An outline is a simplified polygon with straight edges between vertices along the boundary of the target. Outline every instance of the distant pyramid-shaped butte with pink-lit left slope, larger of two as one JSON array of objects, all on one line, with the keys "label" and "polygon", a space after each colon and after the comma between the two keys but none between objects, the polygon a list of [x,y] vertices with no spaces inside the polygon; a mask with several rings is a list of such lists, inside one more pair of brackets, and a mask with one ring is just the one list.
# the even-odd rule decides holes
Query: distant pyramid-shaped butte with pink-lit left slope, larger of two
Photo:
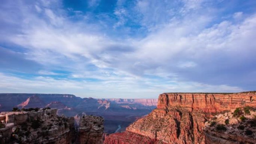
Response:
[{"label": "distant pyramid-shaped butte with pink-lit left slope, larger of two", "polygon": [[36,108],[36,107],[44,108],[45,103],[38,96],[33,95],[33,96],[29,97],[26,101],[17,105],[17,107],[19,107],[19,108]]}]

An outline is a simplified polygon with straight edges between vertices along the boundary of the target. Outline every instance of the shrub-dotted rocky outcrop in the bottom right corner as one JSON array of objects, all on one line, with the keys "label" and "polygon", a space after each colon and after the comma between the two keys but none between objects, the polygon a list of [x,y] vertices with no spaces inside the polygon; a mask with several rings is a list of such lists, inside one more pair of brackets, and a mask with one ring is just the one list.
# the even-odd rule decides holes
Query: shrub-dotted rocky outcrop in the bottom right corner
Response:
[{"label": "shrub-dotted rocky outcrop in the bottom right corner", "polygon": [[[218,114],[205,123],[205,144],[256,144],[256,112],[245,107]],[[251,109],[251,110],[250,110]],[[237,113],[237,114],[235,114]]]}]

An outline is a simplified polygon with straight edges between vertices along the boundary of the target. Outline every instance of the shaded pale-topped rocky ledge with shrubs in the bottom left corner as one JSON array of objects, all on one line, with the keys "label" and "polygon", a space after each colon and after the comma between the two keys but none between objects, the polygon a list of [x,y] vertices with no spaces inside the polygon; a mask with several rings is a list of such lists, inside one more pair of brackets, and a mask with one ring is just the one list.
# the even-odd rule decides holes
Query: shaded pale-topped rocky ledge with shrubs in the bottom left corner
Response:
[{"label": "shaded pale-topped rocky ledge with shrubs in the bottom left corner", "polygon": [[2,112],[4,128],[0,129],[3,144],[70,144],[69,119],[57,116],[57,109]]}]

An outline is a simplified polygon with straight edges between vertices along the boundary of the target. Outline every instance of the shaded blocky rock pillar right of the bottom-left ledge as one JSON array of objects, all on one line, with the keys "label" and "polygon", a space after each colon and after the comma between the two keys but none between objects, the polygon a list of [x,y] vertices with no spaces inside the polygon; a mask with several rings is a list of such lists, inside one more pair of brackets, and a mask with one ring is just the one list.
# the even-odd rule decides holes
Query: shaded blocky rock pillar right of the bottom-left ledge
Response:
[{"label": "shaded blocky rock pillar right of the bottom-left ledge", "polygon": [[82,116],[79,120],[77,144],[102,144],[104,119],[96,116]]}]

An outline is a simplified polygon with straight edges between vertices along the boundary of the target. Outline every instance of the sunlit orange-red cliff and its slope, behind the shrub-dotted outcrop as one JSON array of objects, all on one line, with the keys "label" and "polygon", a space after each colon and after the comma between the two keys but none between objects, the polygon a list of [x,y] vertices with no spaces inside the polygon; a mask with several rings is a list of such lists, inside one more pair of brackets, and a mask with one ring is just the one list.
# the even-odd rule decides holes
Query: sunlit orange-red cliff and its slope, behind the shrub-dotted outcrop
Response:
[{"label": "sunlit orange-red cliff and its slope, behind the shrub-dotted outcrop", "polygon": [[[205,139],[204,126],[214,113],[232,111],[237,107],[256,107],[255,92],[164,93],[159,95],[157,109],[126,129],[129,134],[110,134],[105,144],[133,144],[124,141],[130,132],[150,138],[153,144],[210,144]],[[145,140],[146,140],[145,138]],[[136,137],[134,137],[136,139]],[[138,144],[143,138],[138,138]]]}]

